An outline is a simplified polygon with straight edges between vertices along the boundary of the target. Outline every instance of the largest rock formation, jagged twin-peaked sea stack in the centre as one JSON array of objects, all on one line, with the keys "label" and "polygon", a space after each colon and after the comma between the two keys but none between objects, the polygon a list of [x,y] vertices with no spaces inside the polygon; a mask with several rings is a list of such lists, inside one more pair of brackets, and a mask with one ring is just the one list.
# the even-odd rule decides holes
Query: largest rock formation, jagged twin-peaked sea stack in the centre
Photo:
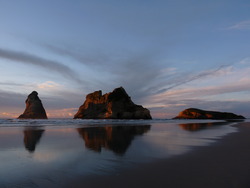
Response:
[{"label": "largest rock formation, jagged twin-peaked sea stack in the centre", "polygon": [[148,109],[132,102],[120,87],[102,95],[95,91],[86,96],[74,119],[152,119]]}]

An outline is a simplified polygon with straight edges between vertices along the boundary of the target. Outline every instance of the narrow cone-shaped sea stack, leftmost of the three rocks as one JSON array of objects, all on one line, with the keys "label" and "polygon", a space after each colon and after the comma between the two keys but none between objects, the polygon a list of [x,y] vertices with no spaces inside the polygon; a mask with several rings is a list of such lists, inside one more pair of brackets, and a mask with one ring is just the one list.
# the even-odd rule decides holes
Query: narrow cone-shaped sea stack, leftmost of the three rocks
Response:
[{"label": "narrow cone-shaped sea stack, leftmost of the three rocks", "polygon": [[18,119],[48,119],[38,93],[33,91],[25,101],[26,108]]}]

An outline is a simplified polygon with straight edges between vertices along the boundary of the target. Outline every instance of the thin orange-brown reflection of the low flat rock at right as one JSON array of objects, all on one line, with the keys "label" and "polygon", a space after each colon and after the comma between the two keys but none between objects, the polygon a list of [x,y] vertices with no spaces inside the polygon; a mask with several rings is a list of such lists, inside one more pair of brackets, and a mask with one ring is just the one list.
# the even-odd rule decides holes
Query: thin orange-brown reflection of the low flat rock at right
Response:
[{"label": "thin orange-brown reflection of the low flat rock at right", "polygon": [[179,126],[186,131],[199,131],[201,129],[206,129],[211,126],[226,125],[227,122],[215,122],[215,123],[187,123],[179,124]]}]

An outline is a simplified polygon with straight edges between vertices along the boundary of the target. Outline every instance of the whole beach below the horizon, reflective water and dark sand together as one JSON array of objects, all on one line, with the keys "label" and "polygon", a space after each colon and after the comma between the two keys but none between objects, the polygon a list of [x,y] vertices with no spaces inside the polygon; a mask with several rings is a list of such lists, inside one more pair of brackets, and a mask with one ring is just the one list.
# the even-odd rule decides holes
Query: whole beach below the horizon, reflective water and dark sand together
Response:
[{"label": "whole beach below the horizon, reflective water and dark sand together", "polygon": [[0,187],[250,187],[250,123],[1,121]]}]

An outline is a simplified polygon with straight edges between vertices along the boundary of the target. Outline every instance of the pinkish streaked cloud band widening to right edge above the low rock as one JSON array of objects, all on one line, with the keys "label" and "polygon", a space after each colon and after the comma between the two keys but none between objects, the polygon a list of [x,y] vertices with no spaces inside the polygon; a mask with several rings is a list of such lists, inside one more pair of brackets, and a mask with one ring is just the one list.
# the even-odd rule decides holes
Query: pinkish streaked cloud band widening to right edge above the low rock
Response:
[{"label": "pinkish streaked cloud band widening to right edge above the low rock", "polygon": [[[233,66],[220,67],[214,71],[201,72],[198,76],[184,77],[185,81],[173,82],[173,87],[166,88],[151,95],[153,103],[159,103],[162,99],[187,99],[187,98],[211,98],[216,95],[229,95],[250,92],[250,69],[238,68],[241,61]],[[201,78],[203,78],[201,80]],[[192,85],[186,85],[193,81]],[[177,87],[180,86],[181,87]],[[240,99],[238,99],[240,100]]]}]

